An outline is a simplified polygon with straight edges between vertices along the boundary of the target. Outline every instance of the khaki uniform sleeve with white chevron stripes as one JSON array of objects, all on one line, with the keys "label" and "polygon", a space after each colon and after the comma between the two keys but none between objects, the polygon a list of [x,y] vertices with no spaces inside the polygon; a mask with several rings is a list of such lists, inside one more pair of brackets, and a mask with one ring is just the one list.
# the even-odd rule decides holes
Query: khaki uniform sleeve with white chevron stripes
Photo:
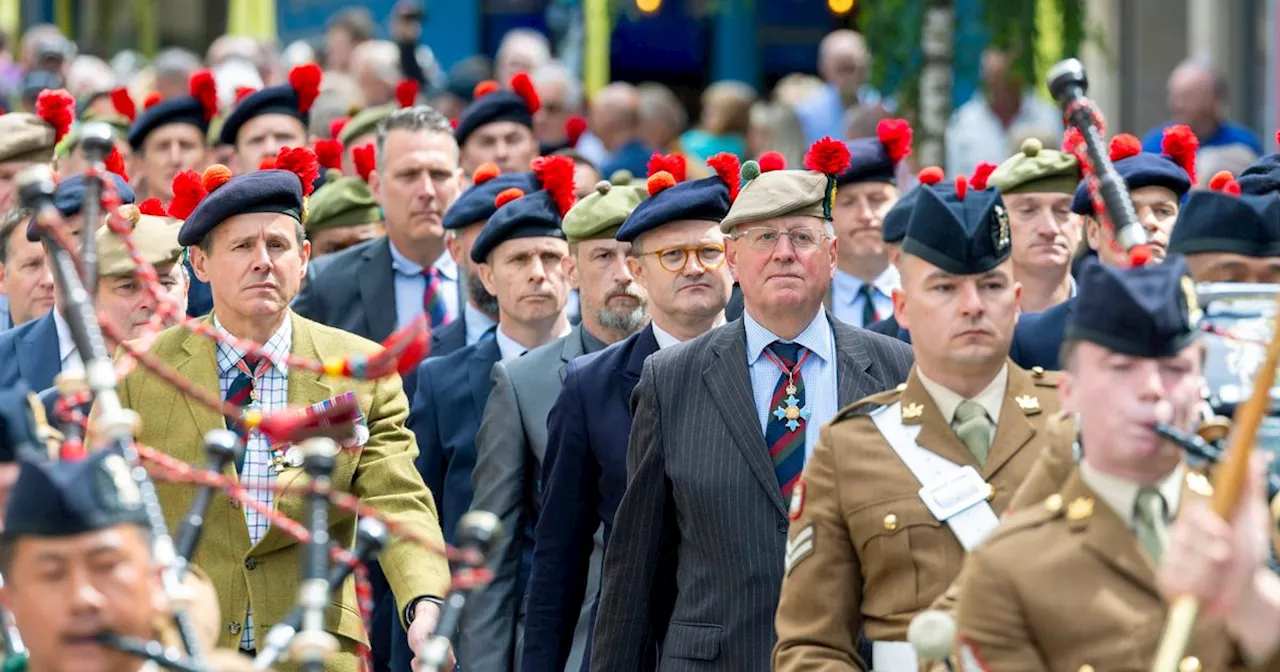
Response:
[{"label": "khaki uniform sleeve with white chevron stripes", "polygon": [[778,602],[778,643],[773,669],[865,669],[858,657],[861,631],[861,567],[840,502],[833,434],[849,424],[822,428],[791,502],[786,575]]}]

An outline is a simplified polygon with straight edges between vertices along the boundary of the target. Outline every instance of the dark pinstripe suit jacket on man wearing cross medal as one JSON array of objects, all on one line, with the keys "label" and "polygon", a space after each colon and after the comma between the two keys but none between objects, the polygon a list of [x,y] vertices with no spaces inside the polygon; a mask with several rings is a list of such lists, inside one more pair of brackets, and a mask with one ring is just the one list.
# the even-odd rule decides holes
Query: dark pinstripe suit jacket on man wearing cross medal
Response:
[{"label": "dark pinstripe suit jacket on man wearing cross medal", "polygon": [[[840,323],[841,406],[906,380],[911,349]],[[787,503],[735,320],[644,364],[591,669],[769,669]]]}]

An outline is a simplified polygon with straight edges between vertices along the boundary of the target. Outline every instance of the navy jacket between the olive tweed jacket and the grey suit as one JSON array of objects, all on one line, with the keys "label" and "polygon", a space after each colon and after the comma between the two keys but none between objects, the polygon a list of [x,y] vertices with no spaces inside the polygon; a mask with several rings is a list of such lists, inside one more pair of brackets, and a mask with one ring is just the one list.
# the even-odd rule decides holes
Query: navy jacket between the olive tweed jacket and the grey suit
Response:
[{"label": "navy jacket between the olive tweed jacket and the grey suit", "polygon": [[476,431],[502,358],[498,339],[486,338],[417,366],[417,390],[408,429],[417,438],[417,471],[435,498],[444,540],[453,543],[458,518],[471,508]]}]

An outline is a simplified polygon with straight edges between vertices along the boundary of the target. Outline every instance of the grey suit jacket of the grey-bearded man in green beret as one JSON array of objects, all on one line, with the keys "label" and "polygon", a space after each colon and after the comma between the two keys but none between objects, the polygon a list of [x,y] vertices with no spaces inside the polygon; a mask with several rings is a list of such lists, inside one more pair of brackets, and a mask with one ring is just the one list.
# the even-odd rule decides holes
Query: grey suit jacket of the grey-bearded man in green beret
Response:
[{"label": "grey suit jacket of the grey-bearded man in green beret", "polygon": [[[458,659],[466,669],[508,672],[520,654],[526,556],[532,554],[534,522],[541,508],[541,463],[547,454],[547,415],[564,380],[564,365],[589,352],[582,326],[530,351],[524,357],[493,366],[493,390],[476,434],[472,508],[497,513],[503,535],[489,556],[493,581],[467,604]],[[589,612],[593,604],[585,605]],[[582,658],[590,618],[579,621],[576,659]],[[571,654],[572,658],[572,654]],[[576,669],[576,668],[573,668]]]}]

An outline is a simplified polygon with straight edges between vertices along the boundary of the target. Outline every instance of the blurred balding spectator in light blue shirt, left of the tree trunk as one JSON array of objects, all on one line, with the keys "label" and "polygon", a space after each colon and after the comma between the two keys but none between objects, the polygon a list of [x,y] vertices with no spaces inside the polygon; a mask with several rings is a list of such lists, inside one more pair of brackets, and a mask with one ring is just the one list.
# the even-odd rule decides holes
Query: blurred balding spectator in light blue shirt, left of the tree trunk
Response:
[{"label": "blurred balding spectator in light blue shirt, left of the tree trunk", "polygon": [[840,29],[822,38],[818,74],[826,86],[796,106],[806,142],[827,136],[840,138],[845,133],[845,110],[879,105],[879,91],[867,83],[870,64],[872,55],[861,35]]}]

